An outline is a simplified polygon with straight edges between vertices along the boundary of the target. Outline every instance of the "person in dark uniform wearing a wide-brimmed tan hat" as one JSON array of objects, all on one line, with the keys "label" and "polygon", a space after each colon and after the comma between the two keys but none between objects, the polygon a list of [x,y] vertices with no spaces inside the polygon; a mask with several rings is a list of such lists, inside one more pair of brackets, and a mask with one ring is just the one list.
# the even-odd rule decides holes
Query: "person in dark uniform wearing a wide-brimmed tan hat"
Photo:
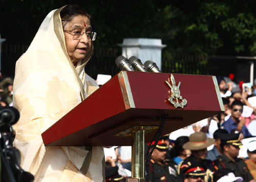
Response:
[{"label": "person in dark uniform wearing a wide-brimmed tan hat", "polygon": [[179,164],[178,174],[185,179],[185,174],[188,168],[191,166],[203,166],[206,170],[205,181],[211,181],[213,179],[212,171],[214,167],[210,160],[207,160],[207,147],[214,144],[215,140],[207,138],[203,132],[195,132],[189,136],[189,141],[183,145],[184,149],[191,150],[190,157],[184,159]]}]

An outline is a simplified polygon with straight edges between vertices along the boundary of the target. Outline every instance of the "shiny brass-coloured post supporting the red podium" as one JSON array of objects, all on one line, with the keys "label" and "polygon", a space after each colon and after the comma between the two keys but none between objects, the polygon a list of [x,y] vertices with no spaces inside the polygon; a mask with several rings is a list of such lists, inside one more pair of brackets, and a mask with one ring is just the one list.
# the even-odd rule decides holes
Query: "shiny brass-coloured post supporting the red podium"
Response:
[{"label": "shiny brass-coloured post supporting the red podium", "polygon": [[132,131],[132,178],[144,178],[144,127],[135,126]]}]

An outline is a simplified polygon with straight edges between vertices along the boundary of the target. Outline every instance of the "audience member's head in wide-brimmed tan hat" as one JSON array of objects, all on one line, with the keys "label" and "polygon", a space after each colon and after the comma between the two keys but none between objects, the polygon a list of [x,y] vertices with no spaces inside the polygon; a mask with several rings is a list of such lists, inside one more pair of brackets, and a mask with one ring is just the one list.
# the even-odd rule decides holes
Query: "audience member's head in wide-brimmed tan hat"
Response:
[{"label": "audience member's head in wide-brimmed tan hat", "polygon": [[201,161],[207,157],[207,147],[214,143],[215,140],[207,138],[203,132],[195,132],[189,136],[189,141],[183,145],[183,148],[191,150],[191,154]]}]

